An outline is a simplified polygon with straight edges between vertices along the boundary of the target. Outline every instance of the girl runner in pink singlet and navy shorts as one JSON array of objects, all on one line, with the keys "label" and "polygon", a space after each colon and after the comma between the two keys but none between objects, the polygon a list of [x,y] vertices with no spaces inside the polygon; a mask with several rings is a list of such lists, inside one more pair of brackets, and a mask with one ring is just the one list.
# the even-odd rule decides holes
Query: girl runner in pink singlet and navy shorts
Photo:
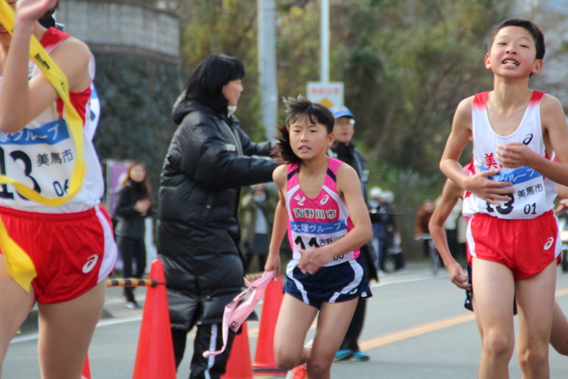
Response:
[{"label": "girl runner in pink singlet and navy shorts", "polygon": [[[319,104],[288,99],[276,152],[287,164],[272,175],[280,201],[264,269],[280,272],[280,243],[288,229],[292,260],[274,334],[274,354],[288,378],[326,379],[359,297],[371,296],[359,247],[372,228],[359,178],[349,165],[327,156],[334,117]],[[318,315],[311,346],[305,336]]]}]

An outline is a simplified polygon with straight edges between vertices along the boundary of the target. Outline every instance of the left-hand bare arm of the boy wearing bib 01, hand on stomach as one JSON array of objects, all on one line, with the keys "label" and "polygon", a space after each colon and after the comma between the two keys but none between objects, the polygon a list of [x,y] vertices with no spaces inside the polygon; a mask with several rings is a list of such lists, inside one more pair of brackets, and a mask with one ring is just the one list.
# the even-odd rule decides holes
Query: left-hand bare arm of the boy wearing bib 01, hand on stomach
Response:
[{"label": "left-hand bare arm of the boy wearing bib 01, hand on stomach", "polygon": [[462,100],[454,115],[452,131],[447,138],[446,148],[440,161],[440,170],[451,179],[456,185],[465,188],[471,193],[475,193],[480,199],[489,201],[494,205],[499,205],[497,201],[509,201],[509,196],[505,193],[513,193],[509,182],[495,182],[489,180],[489,176],[495,175],[499,170],[487,170],[476,175],[469,176],[458,162],[461,153],[468,143],[471,135],[471,108],[473,98]]}]

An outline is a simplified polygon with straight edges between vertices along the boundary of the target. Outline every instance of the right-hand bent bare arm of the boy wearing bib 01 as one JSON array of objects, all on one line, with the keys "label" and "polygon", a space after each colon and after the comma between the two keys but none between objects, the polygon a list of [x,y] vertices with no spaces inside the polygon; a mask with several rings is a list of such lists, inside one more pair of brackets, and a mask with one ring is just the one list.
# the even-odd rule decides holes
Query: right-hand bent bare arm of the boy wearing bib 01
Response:
[{"label": "right-hand bent bare arm of the boy wearing bib 01", "polygon": [[497,146],[497,159],[504,166],[528,166],[563,186],[568,186],[568,130],[564,109],[558,99],[546,95],[540,103],[540,118],[545,145],[556,153],[558,162],[535,153],[521,143]]}]

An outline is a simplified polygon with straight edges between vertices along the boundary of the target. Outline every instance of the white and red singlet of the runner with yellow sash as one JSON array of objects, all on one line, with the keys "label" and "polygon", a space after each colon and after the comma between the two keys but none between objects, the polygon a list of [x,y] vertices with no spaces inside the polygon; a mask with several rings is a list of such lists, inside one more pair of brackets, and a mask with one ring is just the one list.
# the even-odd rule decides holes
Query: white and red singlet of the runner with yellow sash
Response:
[{"label": "white and red singlet of the runner with yellow sash", "polygon": [[[68,35],[56,28],[49,28],[41,43],[51,53]],[[30,60],[29,79],[39,74],[39,68]],[[89,62],[91,80],[95,75],[95,62]],[[0,85],[2,76],[0,75]],[[84,121],[83,127],[90,130],[90,117],[85,120],[85,109],[90,109],[91,88],[81,92],[70,92],[71,102]],[[0,170],[10,178],[48,198],[67,193],[76,149],[67,122],[63,119],[63,101],[58,99],[23,130],[16,133],[0,132]],[[91,115],[91,114],[90,114]],[[48,207],[29,201],[12,185],[0,186],[0,206],[39,213],[74,213],[91,209],[103,195],[104,183],[91,138],[83,130],[83,154],[86,165],[83,186],[77,195],[60,207]]]}]

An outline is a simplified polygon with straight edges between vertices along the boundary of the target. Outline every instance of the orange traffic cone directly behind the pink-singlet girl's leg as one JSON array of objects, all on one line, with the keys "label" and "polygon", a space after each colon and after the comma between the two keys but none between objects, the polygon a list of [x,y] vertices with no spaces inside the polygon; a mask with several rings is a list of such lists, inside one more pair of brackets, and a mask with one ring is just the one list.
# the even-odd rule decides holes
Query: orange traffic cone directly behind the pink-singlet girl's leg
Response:
[{"label": "orange traffic cone directly behind the pink-singlet girl's leg", "polygon": [[280,276],[278,280],[272,280],[264,292],[263,312],[260,316],[260,327],[256,340],[255,362],[252,365],[255,373],[286,375],[286,371],[280,370],[274,359],[274,330],[282,297],[282,277]]}]

